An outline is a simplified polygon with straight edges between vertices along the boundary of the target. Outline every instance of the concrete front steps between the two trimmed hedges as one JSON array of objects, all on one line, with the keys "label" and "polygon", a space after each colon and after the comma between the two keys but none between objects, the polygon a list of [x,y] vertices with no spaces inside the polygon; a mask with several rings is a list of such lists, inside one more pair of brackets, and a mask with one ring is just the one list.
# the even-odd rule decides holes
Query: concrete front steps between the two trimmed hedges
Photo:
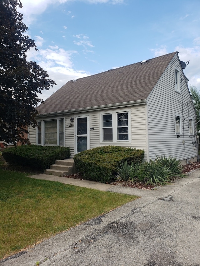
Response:
[{"label": "concrete front steps between the two trimmed hedges", "polygon": [[75,163],[73,159],[55,161],[55,164],[50,165],[50,169],[44,170],[45,174],[58,177],[71,175],[75,172]]}]

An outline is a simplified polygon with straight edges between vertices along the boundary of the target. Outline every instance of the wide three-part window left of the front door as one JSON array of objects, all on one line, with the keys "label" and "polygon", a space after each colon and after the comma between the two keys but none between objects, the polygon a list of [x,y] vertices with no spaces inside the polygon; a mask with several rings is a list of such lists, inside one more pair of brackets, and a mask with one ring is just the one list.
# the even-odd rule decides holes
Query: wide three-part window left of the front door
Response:
[{"label": "wide three-part window left of the front door", "polygon": [[64,145],[64,119],[37,122],[37,145]]}]

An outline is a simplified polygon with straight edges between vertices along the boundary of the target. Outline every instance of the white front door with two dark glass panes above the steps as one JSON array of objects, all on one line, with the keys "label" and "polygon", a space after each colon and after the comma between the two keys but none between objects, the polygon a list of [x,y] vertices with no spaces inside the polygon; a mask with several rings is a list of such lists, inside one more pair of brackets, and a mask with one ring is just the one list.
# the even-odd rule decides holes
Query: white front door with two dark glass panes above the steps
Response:
[{"label": "white front door with two dark glass panes above the steps", "polygon": [[76,153],[88,149],[88,116],[76,118]]}]

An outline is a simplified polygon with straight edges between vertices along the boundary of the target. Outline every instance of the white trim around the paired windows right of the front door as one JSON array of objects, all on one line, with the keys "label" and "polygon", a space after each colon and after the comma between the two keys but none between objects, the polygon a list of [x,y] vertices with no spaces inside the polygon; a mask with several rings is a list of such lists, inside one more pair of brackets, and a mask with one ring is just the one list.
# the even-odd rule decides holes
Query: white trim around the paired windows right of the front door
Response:
[{"label": "white trim around the paired windows right of the front door", "polygon": [[[118,113],[128,113],[128,140],[117,140],[118,133],[117,133],[117,114]],[[113,140],[103,140],[103,114],[112,114],[113,115]],[[131,144],[131,109],[120,109],[114,111],[105,111],[100,112],[100,143],[104,144],[123,144],[129,143]]]}]

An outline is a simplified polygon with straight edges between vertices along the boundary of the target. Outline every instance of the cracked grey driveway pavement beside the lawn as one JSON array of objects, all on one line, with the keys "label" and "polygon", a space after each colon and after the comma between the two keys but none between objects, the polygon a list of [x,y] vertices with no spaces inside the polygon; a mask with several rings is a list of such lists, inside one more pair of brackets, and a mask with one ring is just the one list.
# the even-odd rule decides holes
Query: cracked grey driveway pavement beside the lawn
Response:
[{"label": "cracked grey driveway pavement beside the lawn", "polygon": [[0,261],[0,266],[200,266],[200,170]]}]

